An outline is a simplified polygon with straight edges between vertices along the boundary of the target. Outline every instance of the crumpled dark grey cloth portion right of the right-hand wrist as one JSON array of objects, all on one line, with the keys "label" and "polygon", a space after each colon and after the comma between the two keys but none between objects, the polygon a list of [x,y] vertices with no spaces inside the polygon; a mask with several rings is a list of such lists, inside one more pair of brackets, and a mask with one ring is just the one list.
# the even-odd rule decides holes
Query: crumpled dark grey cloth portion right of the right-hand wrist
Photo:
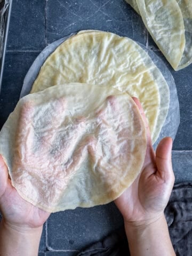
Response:
[{"label": "crumpled dark grey cloth portion right of the right-hand wrist", "polygon": [[171,241],[177,256],[192,255],[192,183],[175,185],[165,209]]}]

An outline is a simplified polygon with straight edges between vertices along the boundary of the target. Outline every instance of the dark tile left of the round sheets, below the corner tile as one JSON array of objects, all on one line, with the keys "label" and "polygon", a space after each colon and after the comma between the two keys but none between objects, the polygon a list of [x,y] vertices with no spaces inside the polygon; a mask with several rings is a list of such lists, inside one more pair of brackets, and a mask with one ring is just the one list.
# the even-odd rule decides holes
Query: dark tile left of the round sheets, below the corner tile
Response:
[{"label": "dark tile left of the round sheets, below the corner tile", "polygon": [[19,100],[23,79],[39,52],[7,52],[0,94],[0,129]]}]

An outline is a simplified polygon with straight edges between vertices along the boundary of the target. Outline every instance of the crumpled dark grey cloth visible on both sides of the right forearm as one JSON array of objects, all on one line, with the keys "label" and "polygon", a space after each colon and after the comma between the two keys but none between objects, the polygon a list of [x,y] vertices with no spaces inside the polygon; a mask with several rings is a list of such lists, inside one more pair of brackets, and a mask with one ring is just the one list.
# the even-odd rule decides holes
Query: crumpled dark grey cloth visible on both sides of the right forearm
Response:
[{"label": "crumpled dark grey cloth visible on both sides of the right forearm", "polygon": [[[192,183],[175,185],[165,209],[171,241],[177,256],[192,255]],[[159,241],[161,243],[161,241]],[[162,244],[163,246],[163,244]],[[129,256],[124,228],[91,245],[77,256]]]}]

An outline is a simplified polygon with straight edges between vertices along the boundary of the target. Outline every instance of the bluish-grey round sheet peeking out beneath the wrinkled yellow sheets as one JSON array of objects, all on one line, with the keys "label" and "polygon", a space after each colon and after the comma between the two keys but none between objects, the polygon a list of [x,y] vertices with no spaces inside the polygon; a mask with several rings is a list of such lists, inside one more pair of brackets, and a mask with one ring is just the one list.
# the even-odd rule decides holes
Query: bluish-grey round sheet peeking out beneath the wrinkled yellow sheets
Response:
[{"label": "bluish-grey round sheet peeking out beneath the wrinkled yellow sheets", "polygon": [[[57,47],[66,41],[70,36],[73,36],[75,34],[71,34],[67,37],[63,37],[52,44],[48,45],[35,59],[33,65],[31,65],[24,81],[23,86],[20,94],[20,98],[27,95],[35,82],[35,79],[38,76],[38,73],[44,63],[44,61],[49,57],[49,55],[57,49]],[[145,50],[150,58],[153,60],[155,65],[158,67],[159,70],[161,70],[162,75],[164,76],[167,85],[169,86],[170,90],[170,107],[169,111],[165,120],[165,123],[162,127],[161,133],[159,134],[159,137],[157,141],[154,143],[154,148],[157,147],[159,141],[167,136],[170,136],[173,140],[175,138],[175,135],[177,134],[179,122],[180,122],[180,112],[179,112],[179,101],[178,101],[178,95],[177,95],[177,89],[174,83],[174,79],[169,71],[169,69],[166,67],[165,63],[151,50],[147,49],[144,45],[138,43],[139,46],[142,47],[143,50]]]}]

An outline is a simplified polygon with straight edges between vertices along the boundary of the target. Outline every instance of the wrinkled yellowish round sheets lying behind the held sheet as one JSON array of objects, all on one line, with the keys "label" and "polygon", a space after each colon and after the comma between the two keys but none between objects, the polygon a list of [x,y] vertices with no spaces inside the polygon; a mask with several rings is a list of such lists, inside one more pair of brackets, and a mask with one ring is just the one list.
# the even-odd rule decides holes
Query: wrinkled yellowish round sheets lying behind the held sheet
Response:
[{"label": "wrinkled yellowish round sheets lying behind the held sheet", "polygon": [[113,86],[139,98],[153,142],[169,109],[169,88],[141,47],[126,37],[103,31],[81,31],[62,43],[44,62],[31,93],[62,83]]}]

